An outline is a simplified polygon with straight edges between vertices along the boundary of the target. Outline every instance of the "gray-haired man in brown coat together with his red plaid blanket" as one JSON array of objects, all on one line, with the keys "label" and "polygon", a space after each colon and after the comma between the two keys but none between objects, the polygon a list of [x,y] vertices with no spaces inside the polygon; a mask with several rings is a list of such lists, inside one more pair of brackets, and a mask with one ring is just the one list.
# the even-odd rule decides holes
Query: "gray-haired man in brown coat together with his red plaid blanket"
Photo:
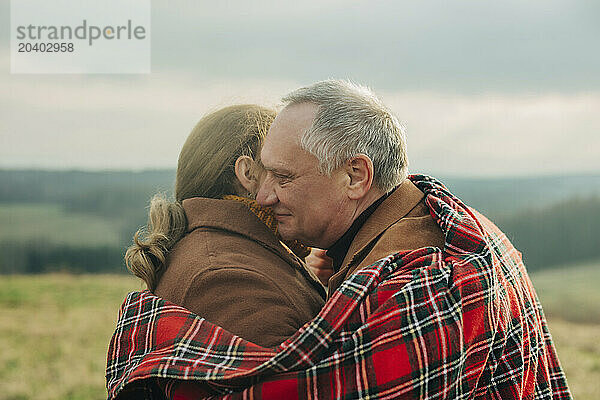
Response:
[{"label": "gray-haired man in brown coat together with his red plaid blanket", "polygon": [[109,349],[109,399],[570,399],[520,253],[442,183],[407,175],[385,106],[343,81],[284,100],[257,201],[284,239],[327,249],[323,310],[266,349],[132,293]]}]

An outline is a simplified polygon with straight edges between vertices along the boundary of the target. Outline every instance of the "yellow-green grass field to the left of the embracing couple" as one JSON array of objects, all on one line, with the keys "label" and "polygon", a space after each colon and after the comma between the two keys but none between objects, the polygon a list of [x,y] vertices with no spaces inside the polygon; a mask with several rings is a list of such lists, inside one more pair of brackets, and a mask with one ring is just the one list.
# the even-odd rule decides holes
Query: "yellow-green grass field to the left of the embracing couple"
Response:
[{"label": "yellow-green grass field to the left of the embracing couple", "polygon": [[118,275],[2,277],[0,399],[103,399],[108,340],[137,280]]}]

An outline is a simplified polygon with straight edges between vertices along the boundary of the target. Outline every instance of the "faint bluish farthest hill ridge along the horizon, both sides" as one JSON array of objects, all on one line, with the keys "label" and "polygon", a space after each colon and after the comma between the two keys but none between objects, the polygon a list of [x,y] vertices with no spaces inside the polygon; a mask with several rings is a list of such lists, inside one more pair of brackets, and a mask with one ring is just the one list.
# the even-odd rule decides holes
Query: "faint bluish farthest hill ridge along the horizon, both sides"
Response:
[{"label": "faint bluish farthest hill ridge along the horizon, both sides", "polygon": [[[543,208],[572,198],[600,195],[600,174],[461,178],[436,176],[467,204],[492,218],[519,210]],[[0,170],[0,203],[59,203],[72,208],[100,211],[113,203],[108,198],[139,204],[158,191],[172,192],[174,170],[43,171]],[[89,198],[104,198],[105,204]],[[84,204],[88,204],[89,207]]]}]

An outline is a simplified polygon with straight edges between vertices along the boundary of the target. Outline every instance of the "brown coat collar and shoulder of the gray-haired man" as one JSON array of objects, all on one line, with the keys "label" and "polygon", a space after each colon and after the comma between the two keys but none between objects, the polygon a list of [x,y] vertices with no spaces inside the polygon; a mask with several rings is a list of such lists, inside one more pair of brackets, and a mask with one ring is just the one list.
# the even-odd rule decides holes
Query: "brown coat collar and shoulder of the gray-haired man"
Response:
[{"label": "brown coat collar and shoulder of the gray-haired man", "polygon": [[381,203],[350,244],[342,267],[329,279],[329,294],[361,267],[390,254],[426,246],[444,247],[444,235],[429,214],[425,195],[406,179]]}]

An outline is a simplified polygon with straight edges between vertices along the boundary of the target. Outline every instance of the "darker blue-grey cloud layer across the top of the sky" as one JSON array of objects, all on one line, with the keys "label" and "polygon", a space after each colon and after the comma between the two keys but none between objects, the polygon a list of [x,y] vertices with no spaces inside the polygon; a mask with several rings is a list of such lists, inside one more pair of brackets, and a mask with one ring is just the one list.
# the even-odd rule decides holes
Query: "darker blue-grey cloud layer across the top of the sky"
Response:
[{"label": "darker blue-grey cloud layer across the top of the sky", "polygon": [[395,91],[600,90],[598,11],[592,0],[155,0],[152,68]]}]

